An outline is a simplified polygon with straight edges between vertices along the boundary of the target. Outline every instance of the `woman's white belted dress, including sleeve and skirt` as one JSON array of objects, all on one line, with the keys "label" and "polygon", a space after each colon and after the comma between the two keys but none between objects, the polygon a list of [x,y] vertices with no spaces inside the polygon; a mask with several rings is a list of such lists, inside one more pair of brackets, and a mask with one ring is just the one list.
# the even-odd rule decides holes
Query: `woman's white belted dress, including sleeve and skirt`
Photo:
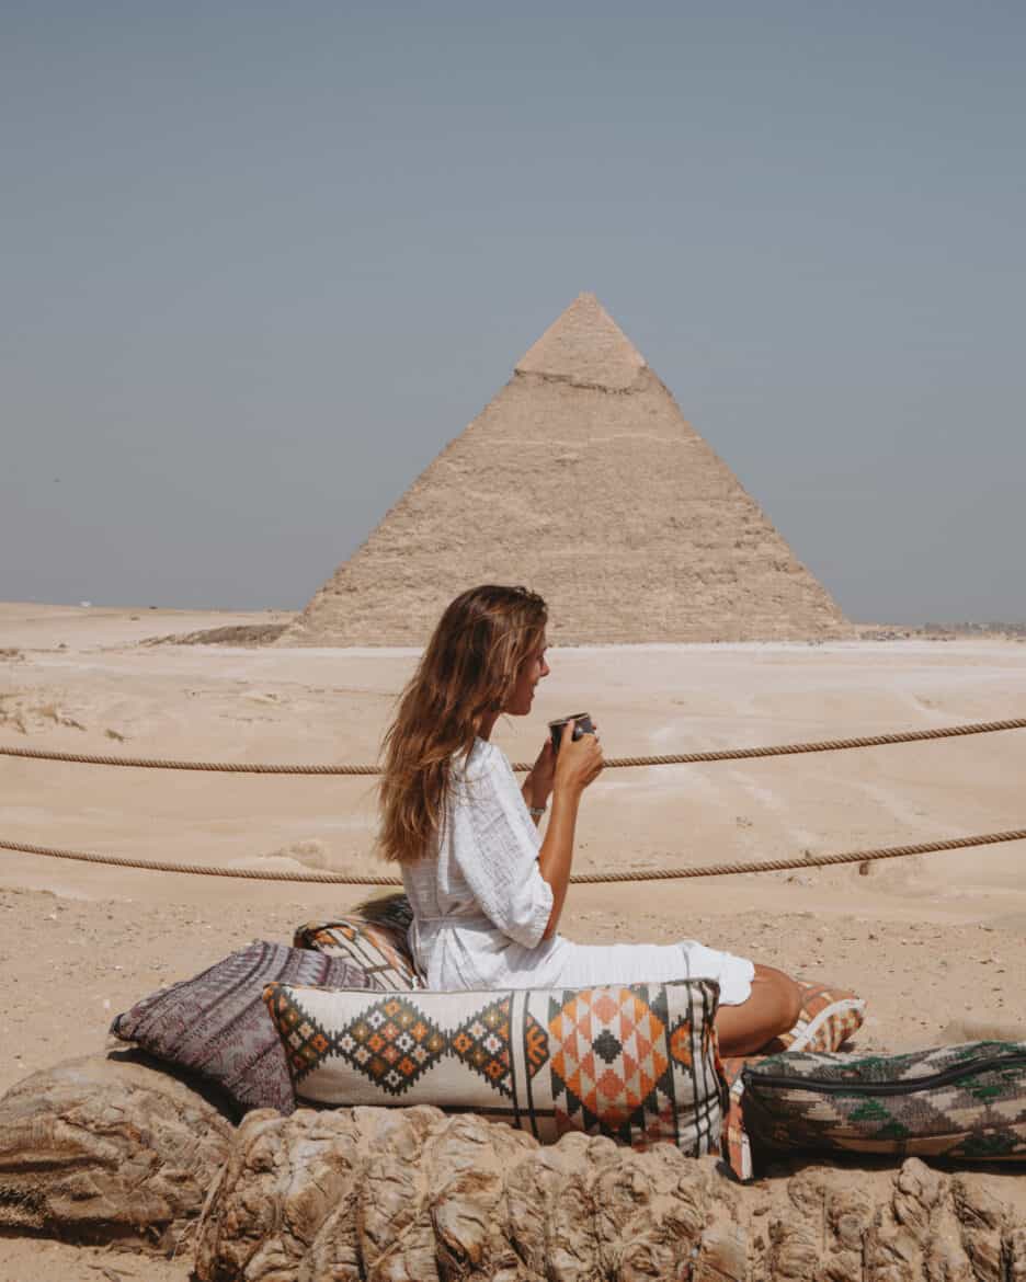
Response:
[{"label": "woman's white belted dress, including sleeve and skirt", "polygon": [[754,967],[694,940],[573,944],[541,938],[553,892],[541,876],[541,837],[503,753],[485,740],[453,759],[435,850],[403,867],[413,908],[409,942],[428,988],[584,988],[712,978],[723,1005],[752,991]]}]

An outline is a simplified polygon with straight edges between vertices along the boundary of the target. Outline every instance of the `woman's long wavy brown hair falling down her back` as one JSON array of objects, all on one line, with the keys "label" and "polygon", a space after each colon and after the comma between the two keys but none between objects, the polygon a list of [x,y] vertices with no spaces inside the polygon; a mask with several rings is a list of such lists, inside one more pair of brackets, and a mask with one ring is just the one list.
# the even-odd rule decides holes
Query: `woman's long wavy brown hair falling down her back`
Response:
[{"label": "woman's long wavy brown hair falling down her back", "polygon": [[536,592],[495,585],[463,592],[442,614],[382,741],[385,859],[410,864],[427,853],[445,813],[449,759],[468,754],[505,705],[546,622]]}]

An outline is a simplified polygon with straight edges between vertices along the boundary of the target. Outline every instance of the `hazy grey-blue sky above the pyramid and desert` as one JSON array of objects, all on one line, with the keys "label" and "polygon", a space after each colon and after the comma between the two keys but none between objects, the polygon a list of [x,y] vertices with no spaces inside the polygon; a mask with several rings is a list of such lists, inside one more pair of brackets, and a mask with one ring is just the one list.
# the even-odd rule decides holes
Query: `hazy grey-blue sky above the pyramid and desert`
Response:
[{"label": "hazy grey-blue sky above the pyramid and desert", "polygon": [[594,290],[858,619],[1026,618],[1026,6],[0,0],[0,597],[299,606]]}]

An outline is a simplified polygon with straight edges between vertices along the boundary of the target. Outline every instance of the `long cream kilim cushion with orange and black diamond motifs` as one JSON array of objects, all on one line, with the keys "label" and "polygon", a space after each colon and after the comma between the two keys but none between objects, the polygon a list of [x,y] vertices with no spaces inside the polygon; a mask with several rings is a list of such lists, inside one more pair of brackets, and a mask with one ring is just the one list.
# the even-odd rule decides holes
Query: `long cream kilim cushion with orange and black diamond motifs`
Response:
[{"label": "long cream kilim cushion with orange and black diamond motifs", "polygon": [[435,1104],[554,1140],[718,1151],[712,979],[501,992],[328,992],[269,985],[300,1099]]}]

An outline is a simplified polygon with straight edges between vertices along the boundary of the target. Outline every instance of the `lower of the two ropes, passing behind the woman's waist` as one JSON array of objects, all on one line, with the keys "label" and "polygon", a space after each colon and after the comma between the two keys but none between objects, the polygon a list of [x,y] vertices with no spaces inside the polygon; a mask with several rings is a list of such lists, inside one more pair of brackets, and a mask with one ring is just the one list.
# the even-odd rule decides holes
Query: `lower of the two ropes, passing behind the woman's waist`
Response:
[{"label": "lower of the two ropes, passing behind the woman's waist", "polygon": [[[907,855],[931,855],[944,850],[964,850],[968,846],[993,846],[1002,841],[1026,841],[1026,828],[1009,832],[986,832],[976,837],[952,837],[948,841],[925,841],[911,846],[877,846],[872,850],[850,850],[837,854],[802,855],[790,859],[739,860],[725,864],[699,864],[694,868],[636,868],[621,873],[576,873],[571,882],[576,886],[604,886],[617,882],[678,881],[687,877],[732,877],[740,873],[785,872],[793,868],[830,868],[836,864],[868,864],[877,859],[900,859]],[[180,864],[164,859],[130,859],[122,855],[101,855],[88,850],[62,850],[55,846],[36,846],[23,841],[0,840],[0,849],[26,855],[44,855],[47,859],[71,859],[87,864],[106,864],[110,868],[139,868],[145,872],[192,873],[199,877],[241,877],[250,881],[312,882],[319,886],[401,886],[394,877],[369,877],[355,873],[281,872],[259,868],[217,868],[204,864]]]}]

